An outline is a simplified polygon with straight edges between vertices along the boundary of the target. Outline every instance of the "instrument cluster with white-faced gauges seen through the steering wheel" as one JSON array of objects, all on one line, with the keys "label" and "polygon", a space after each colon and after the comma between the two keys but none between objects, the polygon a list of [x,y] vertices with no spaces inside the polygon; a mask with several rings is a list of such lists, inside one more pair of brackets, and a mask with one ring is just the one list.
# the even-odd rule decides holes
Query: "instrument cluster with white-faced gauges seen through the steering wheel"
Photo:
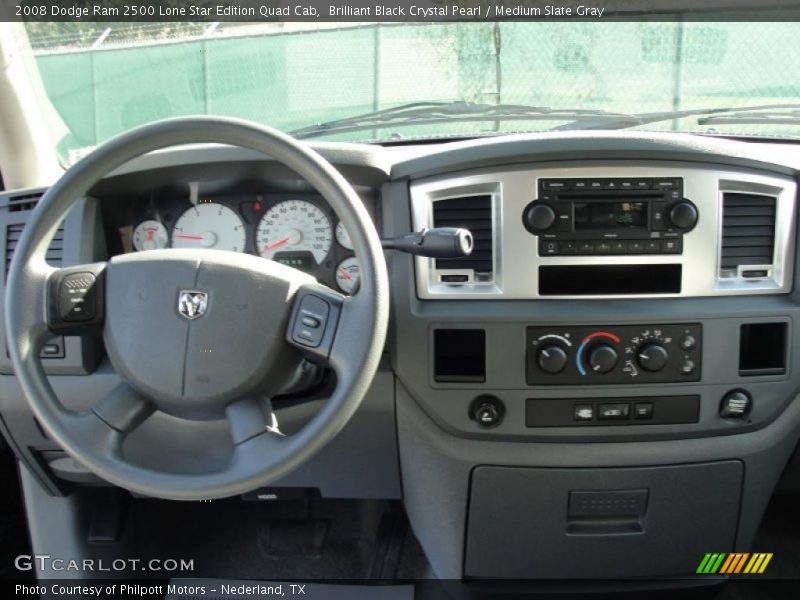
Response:
[{"label": "instrument cluster with white-faced gauges seen through the steering wheel", "polygon": [[256,254],[353,294],[360,269],[350,235],[315,194],[198,195],[139,200],[118,217],[122,252],[212,248]]}]

